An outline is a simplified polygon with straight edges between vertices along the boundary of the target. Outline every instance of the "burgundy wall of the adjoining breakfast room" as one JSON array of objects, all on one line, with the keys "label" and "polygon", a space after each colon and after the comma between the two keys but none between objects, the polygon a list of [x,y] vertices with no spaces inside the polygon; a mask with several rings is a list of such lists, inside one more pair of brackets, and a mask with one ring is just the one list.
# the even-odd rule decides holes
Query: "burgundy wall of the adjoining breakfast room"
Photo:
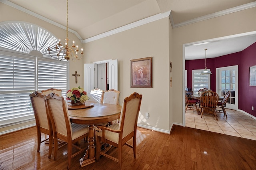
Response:
[{"label": "burgundy wall of the adjoining breakfast room", "polygon": [[[185,61],[188,87],[192,87],[192,70],[204,69],[204,61],[205,59]],[[238,109],[256,117],[256,86],[249,86],[249,67],[256,65],[256,43],[241,52],[206,59],[206,67],[212,72],[210,75],[212,91],[216,91],[216,68],[232,65],[238,65]]]}]

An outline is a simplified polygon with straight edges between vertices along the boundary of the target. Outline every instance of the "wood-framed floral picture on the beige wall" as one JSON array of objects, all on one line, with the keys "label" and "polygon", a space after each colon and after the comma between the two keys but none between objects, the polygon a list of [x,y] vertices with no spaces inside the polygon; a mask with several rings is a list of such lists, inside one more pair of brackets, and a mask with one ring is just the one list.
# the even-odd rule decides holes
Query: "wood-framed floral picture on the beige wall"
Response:
[{"label": "wood-framed floral picture on the beige wall", "polygon": [[152,88],[152,57],[132,59],[130,67],[131,87]]}]

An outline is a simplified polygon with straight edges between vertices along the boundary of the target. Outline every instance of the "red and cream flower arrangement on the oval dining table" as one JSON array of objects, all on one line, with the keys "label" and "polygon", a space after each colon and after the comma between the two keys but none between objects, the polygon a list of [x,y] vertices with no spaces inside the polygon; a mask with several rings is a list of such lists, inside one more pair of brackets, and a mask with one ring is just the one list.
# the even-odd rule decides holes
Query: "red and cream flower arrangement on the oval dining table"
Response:
[{"label": "red and cream flower arrangement on the oval dining table", "polygon": [[85,103],[85,101],[89,100],[87,92],[84,91],[80,86],[73,87],[71,90],[67,91],[67,100],[74,101],[74,103]]}]

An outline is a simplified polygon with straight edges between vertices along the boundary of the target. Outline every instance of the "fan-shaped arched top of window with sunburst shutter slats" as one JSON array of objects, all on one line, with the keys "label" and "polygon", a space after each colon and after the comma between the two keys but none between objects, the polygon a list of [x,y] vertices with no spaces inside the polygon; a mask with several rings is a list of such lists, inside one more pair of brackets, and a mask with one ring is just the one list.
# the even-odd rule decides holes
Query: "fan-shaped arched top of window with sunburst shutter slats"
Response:
[{"label": "fan-shaped arched top of window with sunburst shutter slats", "polygon": [[[0,24],[0,47],[22,53],[40,51],[44,57],[50,57],[47,48],[54,48],[58,39],[50,32],[26,22],[2,22]],[[54,53],[53,53],[54,55]]]}]

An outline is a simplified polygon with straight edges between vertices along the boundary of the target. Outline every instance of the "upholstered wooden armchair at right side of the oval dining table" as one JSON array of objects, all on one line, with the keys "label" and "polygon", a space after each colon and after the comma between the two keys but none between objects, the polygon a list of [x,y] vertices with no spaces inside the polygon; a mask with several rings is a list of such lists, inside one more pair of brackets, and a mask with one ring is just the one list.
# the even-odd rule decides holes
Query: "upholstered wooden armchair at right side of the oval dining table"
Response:
[{"label": "upholstered wooden armchair at right side of the oval dining table", "polygon": [[[141,99],[142,95],[135,92],[132,93],[124,99],[122,104],[120,123],[115,123],[109,127],[98,127],[102,130],[96,134],[96,161],[99,161],[100,155],[103,155],[119,162],[119,167],[122,169],[122,146],[124,144],[133,148],[134,158],[136,158],[136,130]],[[132,145],[126,143],[131,138],[133,138]],[[100,146],[104,142],[118,148],[118,158],[108,154],[108,150],[100,150]]]}]

